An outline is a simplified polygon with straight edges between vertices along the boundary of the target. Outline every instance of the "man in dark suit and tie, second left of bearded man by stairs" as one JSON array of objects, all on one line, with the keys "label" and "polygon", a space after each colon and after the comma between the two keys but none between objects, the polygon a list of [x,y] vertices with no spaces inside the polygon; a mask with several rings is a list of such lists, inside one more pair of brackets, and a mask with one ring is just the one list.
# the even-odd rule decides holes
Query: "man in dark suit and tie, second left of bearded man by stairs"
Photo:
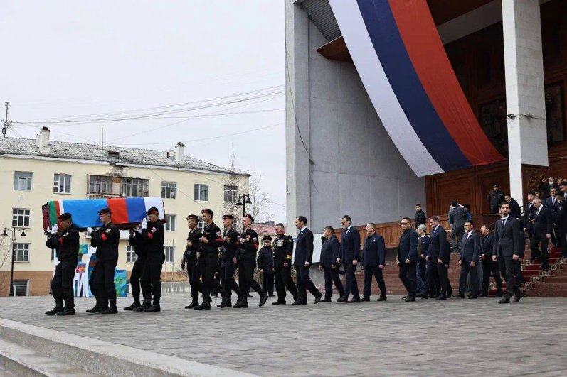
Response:
[{"label": "man in dark suit and tie, second left of bearded man by stairs", "polygon": [[472,220],[465,221],[465,233],[462,235],[461,241],[461,256],[459,259],[459,266],[461,266],[461,273],[459,277],[459,294],[455,298],[465,298],[467,291],[467,276],[470,273],[470,296],[469,298],[478,297],[478,278],[477,278],[477,263],[480,250],[480,239],[475,232],[475,224]]}]

